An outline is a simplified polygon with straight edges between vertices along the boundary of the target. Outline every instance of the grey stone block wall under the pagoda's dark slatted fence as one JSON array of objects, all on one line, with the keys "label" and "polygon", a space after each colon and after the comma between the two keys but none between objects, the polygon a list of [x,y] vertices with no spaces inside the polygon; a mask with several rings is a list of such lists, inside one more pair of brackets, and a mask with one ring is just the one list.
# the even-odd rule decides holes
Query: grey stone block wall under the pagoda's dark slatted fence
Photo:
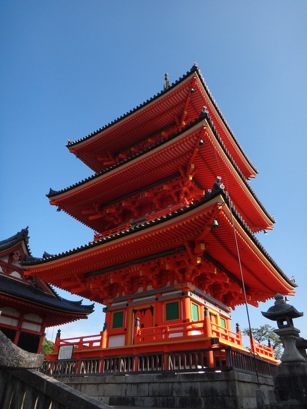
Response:
[{"label": "grey stone block wall under the pagoda's dark slatted fence", "polygon": [[[76,390],[109,405],[256,409],[255,375],[241,372],[209,372],[177,375],[89,376],[60,378]],[[273,379],[261,376],[265,397]]]}]

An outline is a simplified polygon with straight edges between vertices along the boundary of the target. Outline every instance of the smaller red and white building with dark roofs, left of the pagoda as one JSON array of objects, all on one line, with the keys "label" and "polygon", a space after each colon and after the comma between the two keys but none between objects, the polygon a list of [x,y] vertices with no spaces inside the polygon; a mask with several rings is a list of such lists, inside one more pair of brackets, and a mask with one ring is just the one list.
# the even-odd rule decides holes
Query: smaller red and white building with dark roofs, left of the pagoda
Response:
[{"label": "smaller red and white building with dark roofs, left of the pagoda", "polygon": [[58,296],[49,284],[25,277],[31,259],[28,228],[0,241],[0,330],[18,347],[40,353],[47,327],[86,319],[94,308]]}]

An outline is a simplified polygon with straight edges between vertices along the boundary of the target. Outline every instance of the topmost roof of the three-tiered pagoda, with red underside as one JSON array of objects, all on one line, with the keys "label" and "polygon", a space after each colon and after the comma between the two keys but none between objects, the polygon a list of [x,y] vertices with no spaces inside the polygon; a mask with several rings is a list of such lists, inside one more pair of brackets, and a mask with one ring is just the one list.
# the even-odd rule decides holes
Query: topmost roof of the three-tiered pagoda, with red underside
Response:
[{"label": "topmost roof of the three-tiered pagoda, with red underside", "polygon": [[[204,105],[207,106],[217,132],[244,176],[254,177],[257,169],[235,138],[197,65],[193,65],[190,71],[168,89],[86,137],[75,142],[69,141],[67,147],[95,172],[100,172],[105,165],[99,161],[99,156],[105,155],[107,151],[117,155],[150,135],[176,125],[176,118],[180,119],[182,115],[187,116],[188,121],[194,120],[198,118]],[[182,123],[177,125],[180,129]]]}]

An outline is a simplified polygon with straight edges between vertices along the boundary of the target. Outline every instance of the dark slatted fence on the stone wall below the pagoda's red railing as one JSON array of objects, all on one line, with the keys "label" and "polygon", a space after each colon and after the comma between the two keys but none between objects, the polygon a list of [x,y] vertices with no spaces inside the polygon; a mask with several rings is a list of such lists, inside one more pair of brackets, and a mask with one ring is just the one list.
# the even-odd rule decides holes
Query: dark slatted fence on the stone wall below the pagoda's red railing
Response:
[{"label": "dark slatted fence on the stone wall below the pagoda's red railing", "polygon": [[254,373],[256,363],[260,375],[274,376],[276,364],[256,358],[231,347],[203,348],[176,352],[109,356],[85,359],[45,361],[42,373],[53,377],[95,374],[206,372],[210,370]]}]

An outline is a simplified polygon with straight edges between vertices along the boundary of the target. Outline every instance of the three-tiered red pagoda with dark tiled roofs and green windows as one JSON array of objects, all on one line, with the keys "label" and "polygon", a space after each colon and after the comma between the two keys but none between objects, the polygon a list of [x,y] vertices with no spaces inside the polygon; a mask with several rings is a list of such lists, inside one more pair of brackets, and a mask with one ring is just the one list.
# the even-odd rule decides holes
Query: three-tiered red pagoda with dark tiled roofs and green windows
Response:
[{"label": "three-tiered red pagoda with dark tiled roofs and green windows", "polygon": [[[96,173],[47,196],[93,229],[94,240],[23,265],[104,304],[105,325],[97,336],[58,337],[49,357],[64,345],[77,345],[74,358],[216,345],[247,351],[230,326],[230,308],[245,302],[233,224],[248,303],[293,294],[295,284],[254,235],[274,219],[249,185],[257,170],[198,66],[67,147]],[[274,360],[271,347],[253,350]]]}]

